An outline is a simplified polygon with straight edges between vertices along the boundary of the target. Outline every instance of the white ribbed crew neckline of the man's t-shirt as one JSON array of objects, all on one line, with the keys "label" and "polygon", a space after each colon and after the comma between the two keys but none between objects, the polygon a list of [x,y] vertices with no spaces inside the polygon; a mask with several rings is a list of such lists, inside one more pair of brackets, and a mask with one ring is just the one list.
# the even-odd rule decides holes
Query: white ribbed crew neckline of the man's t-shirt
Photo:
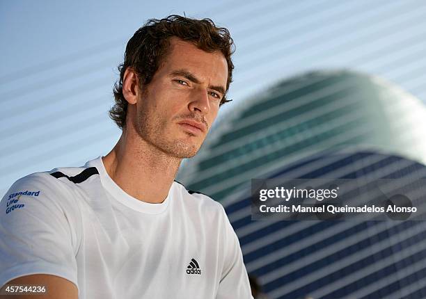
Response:
[{"label": "white ribbed crew neckline of the man's t-shirt", "polygon": [[137,198],[127,194],[120,186],[116,184],[111,177],[109,177],[107,170],[105,169],[104,162],[102,161],[102,156],[98,156],[96,159],[90,160],[86,163],[89,167],[95,167],[100,175],[100,180],[102,186],[107,189],[107,191],[120,203],[124,204],[126,207],[139,211],[141,213],[148,214],[159,214],[166,211],[168,207],[168,202],[170,202],[171,189],[173,184],[168,191],[168,195],[164,202],[160,204],[152,204],[150,202],[143,202]]}]

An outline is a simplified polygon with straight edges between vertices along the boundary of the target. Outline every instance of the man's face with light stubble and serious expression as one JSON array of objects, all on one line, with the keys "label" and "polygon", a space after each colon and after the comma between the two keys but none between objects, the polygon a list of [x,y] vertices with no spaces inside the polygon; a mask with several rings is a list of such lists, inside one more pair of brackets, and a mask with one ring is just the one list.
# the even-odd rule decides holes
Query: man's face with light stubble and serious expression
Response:
[{"label": "man's face with light stubble and serious expression", "polygon": [[226,90],[228,65],[220,51],[207,53],[171,38],[171,47],[137,100],[136,131],[176,158],[194,156],[212,126]]}]

